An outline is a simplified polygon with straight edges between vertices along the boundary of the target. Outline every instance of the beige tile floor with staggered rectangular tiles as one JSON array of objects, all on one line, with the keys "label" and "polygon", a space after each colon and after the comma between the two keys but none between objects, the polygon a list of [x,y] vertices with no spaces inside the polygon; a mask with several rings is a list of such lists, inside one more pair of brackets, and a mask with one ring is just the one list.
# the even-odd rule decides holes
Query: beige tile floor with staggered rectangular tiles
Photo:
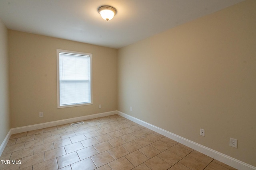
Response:
[{"label": "beige tile floor with staggered rectangular tiles", "polygon": [[0,170],[234,170],[119,115],[13,134],[0,160],[17,162]]}]

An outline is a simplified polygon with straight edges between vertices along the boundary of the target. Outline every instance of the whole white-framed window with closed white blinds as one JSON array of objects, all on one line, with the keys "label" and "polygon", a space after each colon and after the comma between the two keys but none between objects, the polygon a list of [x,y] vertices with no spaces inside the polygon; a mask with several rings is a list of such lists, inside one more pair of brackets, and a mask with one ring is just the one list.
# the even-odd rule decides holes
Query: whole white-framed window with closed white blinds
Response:
[{"label": "whole white-framed window with closed white blinds", "polygon": [[58,108],[92,104],[92,54],[57,49]]}]

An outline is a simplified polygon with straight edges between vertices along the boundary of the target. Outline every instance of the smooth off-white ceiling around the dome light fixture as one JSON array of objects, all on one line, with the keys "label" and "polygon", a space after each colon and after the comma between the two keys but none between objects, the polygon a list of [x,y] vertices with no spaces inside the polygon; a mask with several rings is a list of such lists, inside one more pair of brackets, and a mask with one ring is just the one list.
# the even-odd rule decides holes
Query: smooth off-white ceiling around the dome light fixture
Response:
[{"label": "smooth off-white ceiling around the dome light fixture", "polygon": [[[244,0],[0,0],[8,29],[120,48]],[[102,5],[116,8],[110,21]]]}]

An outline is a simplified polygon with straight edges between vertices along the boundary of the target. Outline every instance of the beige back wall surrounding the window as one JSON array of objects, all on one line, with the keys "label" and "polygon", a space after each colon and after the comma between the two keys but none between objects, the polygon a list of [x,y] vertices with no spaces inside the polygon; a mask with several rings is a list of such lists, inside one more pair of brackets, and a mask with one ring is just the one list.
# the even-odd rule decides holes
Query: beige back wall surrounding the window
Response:
[{"label": "beige back wall surrounding the window", "polygon": [[[56,49],[92,53],[92,105],[57,109]],[[9,57],[12,128],[117,109],[116,49],[9,30]]]}]

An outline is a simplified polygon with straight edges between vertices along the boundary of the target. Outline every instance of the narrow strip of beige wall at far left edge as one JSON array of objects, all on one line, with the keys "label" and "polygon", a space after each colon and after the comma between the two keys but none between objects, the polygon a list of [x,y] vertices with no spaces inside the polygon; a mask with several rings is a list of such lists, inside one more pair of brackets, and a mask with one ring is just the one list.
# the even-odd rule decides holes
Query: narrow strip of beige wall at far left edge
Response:
[{"label": "narrow strip of beige wall at far left edge", "polygon": [[0,19],[0,144],[10,130],[8,31]]}]

